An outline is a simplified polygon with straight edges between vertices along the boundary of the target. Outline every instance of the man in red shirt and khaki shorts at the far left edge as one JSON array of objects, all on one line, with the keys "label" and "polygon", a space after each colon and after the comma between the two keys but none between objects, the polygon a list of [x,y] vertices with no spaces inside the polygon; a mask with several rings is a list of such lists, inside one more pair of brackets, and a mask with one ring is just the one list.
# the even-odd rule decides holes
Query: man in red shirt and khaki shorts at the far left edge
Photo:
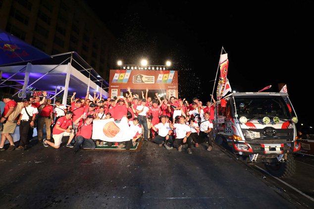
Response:
[{"label": "man in red shirt and khaki shorts at the far left edge", "polygon": [[12,100],[10,96],[4,96],[2,101],[5,103],[5,106],[0,119],[0,123],[3,125],[3,129],[1,131],[0,151],[5,150],[3,146],[6,139],[10,142],[10,147],[7,151],[12,151],[15,149],[15,146],[11,134],[14,133],[16,122],[8,121],[7,118],[13,113],[16,107],[16,102]]}]

